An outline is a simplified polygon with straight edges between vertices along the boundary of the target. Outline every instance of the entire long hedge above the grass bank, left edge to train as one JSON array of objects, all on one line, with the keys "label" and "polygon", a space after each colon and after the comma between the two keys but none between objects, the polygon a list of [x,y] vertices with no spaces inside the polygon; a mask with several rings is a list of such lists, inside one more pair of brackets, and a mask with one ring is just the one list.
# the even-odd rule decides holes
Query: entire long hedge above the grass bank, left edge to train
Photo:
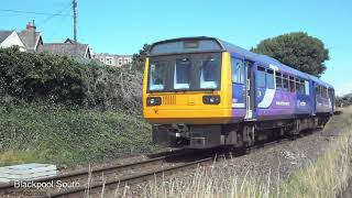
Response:
[{"label": "entire long hedge above the grass bank, left edge to train", "polygon": [[67,107],[141,112],[142,73],[80,64],[67,56],[0,50],[0,102],[45,101]]}]

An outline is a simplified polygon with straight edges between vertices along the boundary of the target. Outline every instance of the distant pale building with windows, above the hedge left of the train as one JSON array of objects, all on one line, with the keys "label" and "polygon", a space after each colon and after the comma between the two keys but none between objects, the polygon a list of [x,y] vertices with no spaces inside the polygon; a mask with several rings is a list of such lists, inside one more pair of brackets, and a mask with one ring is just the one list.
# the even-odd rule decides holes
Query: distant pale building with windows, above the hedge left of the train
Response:
[{"label": "distant pale building with windows, above the hedge left of the train", "polygon": [[94,55],[95,59],[114,67],[121,67],[123,65],[132,63],[132,55],[117,55],[108,53],[98,53]]}]

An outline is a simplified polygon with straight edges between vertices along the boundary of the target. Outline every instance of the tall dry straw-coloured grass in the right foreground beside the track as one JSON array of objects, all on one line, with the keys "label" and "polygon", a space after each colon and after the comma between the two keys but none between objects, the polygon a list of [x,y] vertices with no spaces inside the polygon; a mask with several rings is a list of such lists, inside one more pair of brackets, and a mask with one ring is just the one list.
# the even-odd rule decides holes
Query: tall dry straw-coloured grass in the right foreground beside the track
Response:
[{"label": "tall dry straw-coloured grass in the right foreground beside the track", "polygon": [[[249,170],[237,174],[231,166],[211,168],[198,167],[191,175],[178,175],[148,183],[139,194],[142,197],[338,197],[344,191],[352,176],[352,109],[341,116],[343,135],[339,136],[317,162],[295,170],[286,179],[272,180],[271,174],[258,175]],[[231,162],[229,162],[231,163]],[[122,197],[130,197],[130,188],[120,189]],[[108,197],[111,195],[108,195]]]}]

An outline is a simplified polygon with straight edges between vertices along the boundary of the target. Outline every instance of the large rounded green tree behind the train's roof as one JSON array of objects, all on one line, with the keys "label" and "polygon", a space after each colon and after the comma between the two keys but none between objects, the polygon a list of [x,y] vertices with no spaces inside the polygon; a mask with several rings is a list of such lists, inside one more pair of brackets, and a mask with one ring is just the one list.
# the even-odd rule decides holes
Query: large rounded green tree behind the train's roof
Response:
[{"label": "large rounded green tree behind the train's roof", "polygon": [[251,51],[317,77],[327,69],[324,61],[329,59],[329,50],[322,41],[304,32],[264,40]]}]

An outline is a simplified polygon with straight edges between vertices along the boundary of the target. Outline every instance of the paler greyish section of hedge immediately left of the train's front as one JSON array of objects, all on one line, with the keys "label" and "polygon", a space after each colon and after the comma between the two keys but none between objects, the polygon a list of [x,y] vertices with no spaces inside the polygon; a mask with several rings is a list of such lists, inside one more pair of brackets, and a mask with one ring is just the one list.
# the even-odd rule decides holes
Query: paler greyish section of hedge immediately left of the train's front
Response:
[{"label": "paler greyish section of hedge immediately left of the train's front", "polygon": [[142,79],[139,70],[130,67],[88,67],[86,105],[107,109],[123,109],[132,113],[142,110]]}]

